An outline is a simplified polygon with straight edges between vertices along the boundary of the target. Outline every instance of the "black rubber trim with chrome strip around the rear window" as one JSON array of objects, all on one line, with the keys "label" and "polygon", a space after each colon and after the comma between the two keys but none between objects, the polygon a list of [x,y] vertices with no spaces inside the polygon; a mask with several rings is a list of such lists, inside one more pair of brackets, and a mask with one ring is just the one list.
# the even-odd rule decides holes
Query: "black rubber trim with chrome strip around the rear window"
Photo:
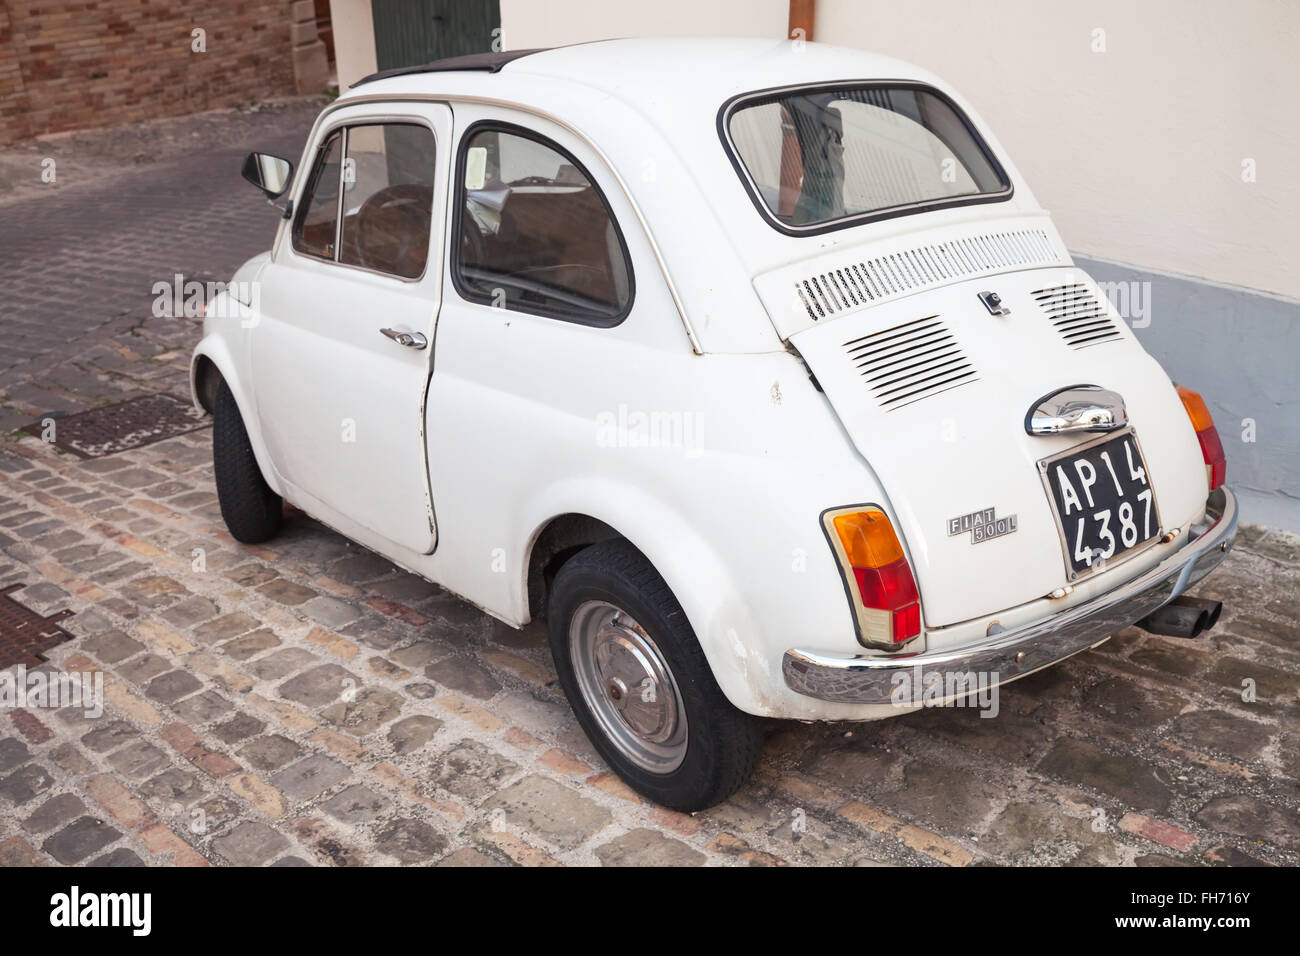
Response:
[{"label": "black rubber trim with chrome strip around the rear window", "polygon": [[[945,199],[926,199],[918,203],[906,203],[904,206],[889,206],[884,209],[872,209],[871,212],[862,212],[855,216],[845,216],[842,219],[831,220],[828,222],[814,222],[806,226],[792,226],[786,222],[781,222],[763,202],[762,194],[758,191],[758,185],[754,182],[754,177],[750,176],[749,169],[745,166],[744,160],[740,157],[740,151],[736,150],[736,144],[732,142],[729,122],[732,114],[741,107],[763,105],[764,103],[776,103],[797,92],[816,92],[820,90],[838,90],[838,88],[889,88],[889,90],[916,90],[920,92],[927,92],[941,103],[948,105],[949,109],[962,121],[966,131],[970,134],[971,140],[975,143],[976,148],[988,160],[997,177],[1006,183],[1006,187],[997,193],[978,193],[968,196],[949,196]],[[1006,169],[998,161],[997,156],[984,142],[984,137],[979,134],[975,129],[975,124],[971,122],[970,117],[966,116],[966,111],[953,101],[952,96],[945,94],[930,83],[922,83],[915,79],[842,79],[829,83],[800,83],[797,86],[776,86],[767,90],[755,90],[754,92],[742,92],[737,96],[732,96],[729,100],[723,103],[718,109],[718,138],[723,143],[723,151],[727,153],[727,159],[731,160],[732,168],[740,177],[741,183],[745,187],[745,193],[749,194],[749,199],[754,203],[754,208],[758,209],[759,215],[771,225],[776,232],[785,235],[823,235],[826,233],[833,233],[838,229],[852,229],[853,226],[861,226],[867,222],[880,222],[881,220],[898,219],[900,216],[914,216],[919,212],[932,212],[935,209],[952,209],[961,206],[980,206],[984,203],[1005,203],[1010,199],[1015,187],[1011,183],[1011,177],[1006,174]]]}]

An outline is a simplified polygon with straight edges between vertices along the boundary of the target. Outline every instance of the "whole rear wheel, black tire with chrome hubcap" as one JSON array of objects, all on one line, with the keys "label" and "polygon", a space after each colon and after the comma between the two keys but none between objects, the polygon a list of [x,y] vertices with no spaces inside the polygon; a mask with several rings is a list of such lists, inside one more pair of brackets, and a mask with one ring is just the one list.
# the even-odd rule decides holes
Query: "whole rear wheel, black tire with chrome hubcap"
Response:
[{"label": "whole rear wheel, black tire with chrome hubcap", "polygon": [[633,790],[702,810],[753,771],[763,722],[723,696],[681,605],[630,544],[593,545],[560,568],[549,627],[578,723]]}]

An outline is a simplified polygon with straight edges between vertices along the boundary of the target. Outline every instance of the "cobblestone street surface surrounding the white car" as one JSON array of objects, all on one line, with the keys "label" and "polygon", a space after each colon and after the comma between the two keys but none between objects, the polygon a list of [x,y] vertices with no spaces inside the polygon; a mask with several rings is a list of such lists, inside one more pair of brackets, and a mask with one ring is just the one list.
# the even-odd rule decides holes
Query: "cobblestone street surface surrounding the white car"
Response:
[{"label": "cobblestone street surface surrounding the white car", "polygon": [[44,670],[105,682],[99,717],[0,708],[0,865],[1300,864],[1296,536],[1243,528],[1199,640],[1123,631],[1002,688],[994,719],[772,722],[750,783],[684,816],[608,773],[542,626],[302,512],[230,538],[211,429],[84,460],[10,431],[187,398],[199,324],[151,315],[151,286],[269,245],[239,157],[296,161],[317,108],[176,121],[159,142],[221,148],[0,199],[0,589],[73,613]]}]

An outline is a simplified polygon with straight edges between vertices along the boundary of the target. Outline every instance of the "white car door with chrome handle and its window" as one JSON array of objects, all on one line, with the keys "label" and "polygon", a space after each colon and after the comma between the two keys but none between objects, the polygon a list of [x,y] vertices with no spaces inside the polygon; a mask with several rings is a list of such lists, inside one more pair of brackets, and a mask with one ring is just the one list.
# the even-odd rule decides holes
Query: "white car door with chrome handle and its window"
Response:
[{"label": "white car door with chrome handle and its window", "polygon": [[373,111],[339,109],[316,134],[292,220],[261,277],[250,364],[290,501],[428,554],[436,524],[424,407],[451,111]]}]

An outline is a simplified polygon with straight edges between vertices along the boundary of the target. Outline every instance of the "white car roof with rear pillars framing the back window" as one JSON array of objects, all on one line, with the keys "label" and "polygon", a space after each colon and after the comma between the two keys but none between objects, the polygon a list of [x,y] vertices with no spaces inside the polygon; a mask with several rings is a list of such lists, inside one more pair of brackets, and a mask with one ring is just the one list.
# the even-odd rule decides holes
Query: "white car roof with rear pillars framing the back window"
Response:
[{"label": "white car roof with rear pillars framing the back window", "polygon": [[[965,99],[902,60],[823,43],[725,36],[598,40],[512,53],[372,78],[339,96],[322,117],[350,107],[385,109],[407,99],[445,100],[452,109],[458,103],[474,104],[469,116],[473,109],[528,112],[534,121],[576,134],[634,207],[702,351],[781,349],[770,321],[755,321],[737,307],[737,295],[745,295],[745,289],[751,295],[755,278],[770,271],[927,225],[1045,216]],[[792,237],[770,228],[720,140],[724,104],[751,92],[852,81],[926,83],[945,92],[984,135],[1014,195],[997,204],[940,209],[824,235]],[[610,185],[606,181],[607,193]]]}]

